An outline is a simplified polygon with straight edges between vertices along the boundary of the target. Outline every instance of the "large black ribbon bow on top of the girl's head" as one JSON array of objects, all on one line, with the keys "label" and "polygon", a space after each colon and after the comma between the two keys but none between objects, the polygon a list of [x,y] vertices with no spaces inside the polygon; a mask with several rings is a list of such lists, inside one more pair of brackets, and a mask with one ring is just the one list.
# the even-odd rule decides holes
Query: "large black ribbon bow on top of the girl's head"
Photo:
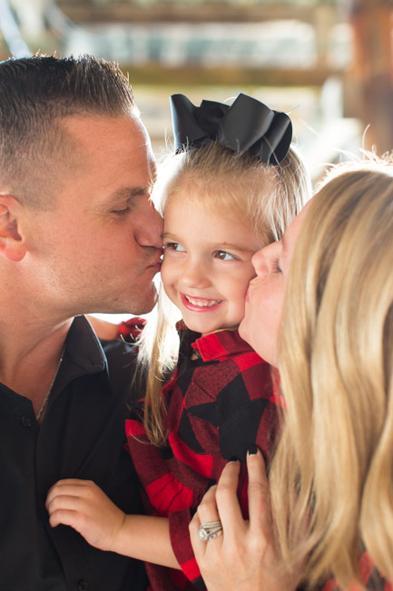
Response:
[{"label": "large black ribbon bow on top of the girl's head", "polygon": [[290,117],[251,96],[240,94],[231,105],[202,101],[201,106],[195,106],[184,95],[172,95],[171,108],[176,152],[211,139],[237,155],[249,152],[276,165],[290,149]]}]

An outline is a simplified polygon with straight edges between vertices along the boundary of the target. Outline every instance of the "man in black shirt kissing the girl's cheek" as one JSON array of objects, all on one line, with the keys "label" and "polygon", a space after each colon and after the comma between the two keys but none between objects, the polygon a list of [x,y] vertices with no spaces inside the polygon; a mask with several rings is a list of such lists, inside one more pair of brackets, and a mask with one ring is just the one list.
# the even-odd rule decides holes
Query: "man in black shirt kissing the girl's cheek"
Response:
[{"label": "man in black shirt kissing the girl's cheek", "polygon": [[[123,450],[133,350],[87,312],[152,309],[161,221],[150,141],[111,64],[0,64],[0,591],[140,591],[141,563],[51,528],[60,478],[141,510]],[[75,317],[77,316],[77,317]]]}]

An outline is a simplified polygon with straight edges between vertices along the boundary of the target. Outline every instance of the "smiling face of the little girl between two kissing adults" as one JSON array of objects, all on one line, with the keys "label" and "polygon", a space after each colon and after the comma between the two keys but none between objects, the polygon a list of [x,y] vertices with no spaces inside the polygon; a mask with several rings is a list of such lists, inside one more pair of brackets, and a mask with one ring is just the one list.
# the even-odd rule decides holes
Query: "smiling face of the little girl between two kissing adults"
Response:
[{"label": "smiling face of the little girl between two kissing adults", "polygon": [[164,212],[162,283],[191,330],[202,335],[236,328],[261,246],[233,213],[211,212],[172,195]]}]

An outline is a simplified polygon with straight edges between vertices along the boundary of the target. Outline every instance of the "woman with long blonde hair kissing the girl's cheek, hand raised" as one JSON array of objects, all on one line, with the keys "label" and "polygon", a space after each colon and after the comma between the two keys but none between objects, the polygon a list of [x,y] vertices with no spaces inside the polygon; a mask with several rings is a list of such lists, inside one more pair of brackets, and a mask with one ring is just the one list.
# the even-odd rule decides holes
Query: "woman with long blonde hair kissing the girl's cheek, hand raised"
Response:
[{"label": "woman with long blonde hair kissing the girl's cheek, hand raised", "polygon": [[[202,502],[191,528],[202,576],[209,591],[329,576],[384,588],[373,563],[393,580],[393,165],[338,167],[253,263],[241,336],[279,367],[285,421],[270,486],[249,455],[249,523],[237,462]],[[200,542],[218,520],[223,536]]]}]

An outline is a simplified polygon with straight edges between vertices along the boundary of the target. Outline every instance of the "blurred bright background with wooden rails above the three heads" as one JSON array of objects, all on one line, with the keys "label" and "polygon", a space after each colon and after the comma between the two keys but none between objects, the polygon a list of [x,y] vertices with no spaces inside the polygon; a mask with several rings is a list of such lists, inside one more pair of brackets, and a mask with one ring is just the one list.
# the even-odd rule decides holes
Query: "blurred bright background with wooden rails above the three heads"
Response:
[{"label": "blurred bright background with wooden rails above the three heads", "polygon": [[0,0],[0,58],[116,60],[155,154],[169,95],[239,92],[290,113],[317,183],[327,163],[393,147],[393,0]]}]

